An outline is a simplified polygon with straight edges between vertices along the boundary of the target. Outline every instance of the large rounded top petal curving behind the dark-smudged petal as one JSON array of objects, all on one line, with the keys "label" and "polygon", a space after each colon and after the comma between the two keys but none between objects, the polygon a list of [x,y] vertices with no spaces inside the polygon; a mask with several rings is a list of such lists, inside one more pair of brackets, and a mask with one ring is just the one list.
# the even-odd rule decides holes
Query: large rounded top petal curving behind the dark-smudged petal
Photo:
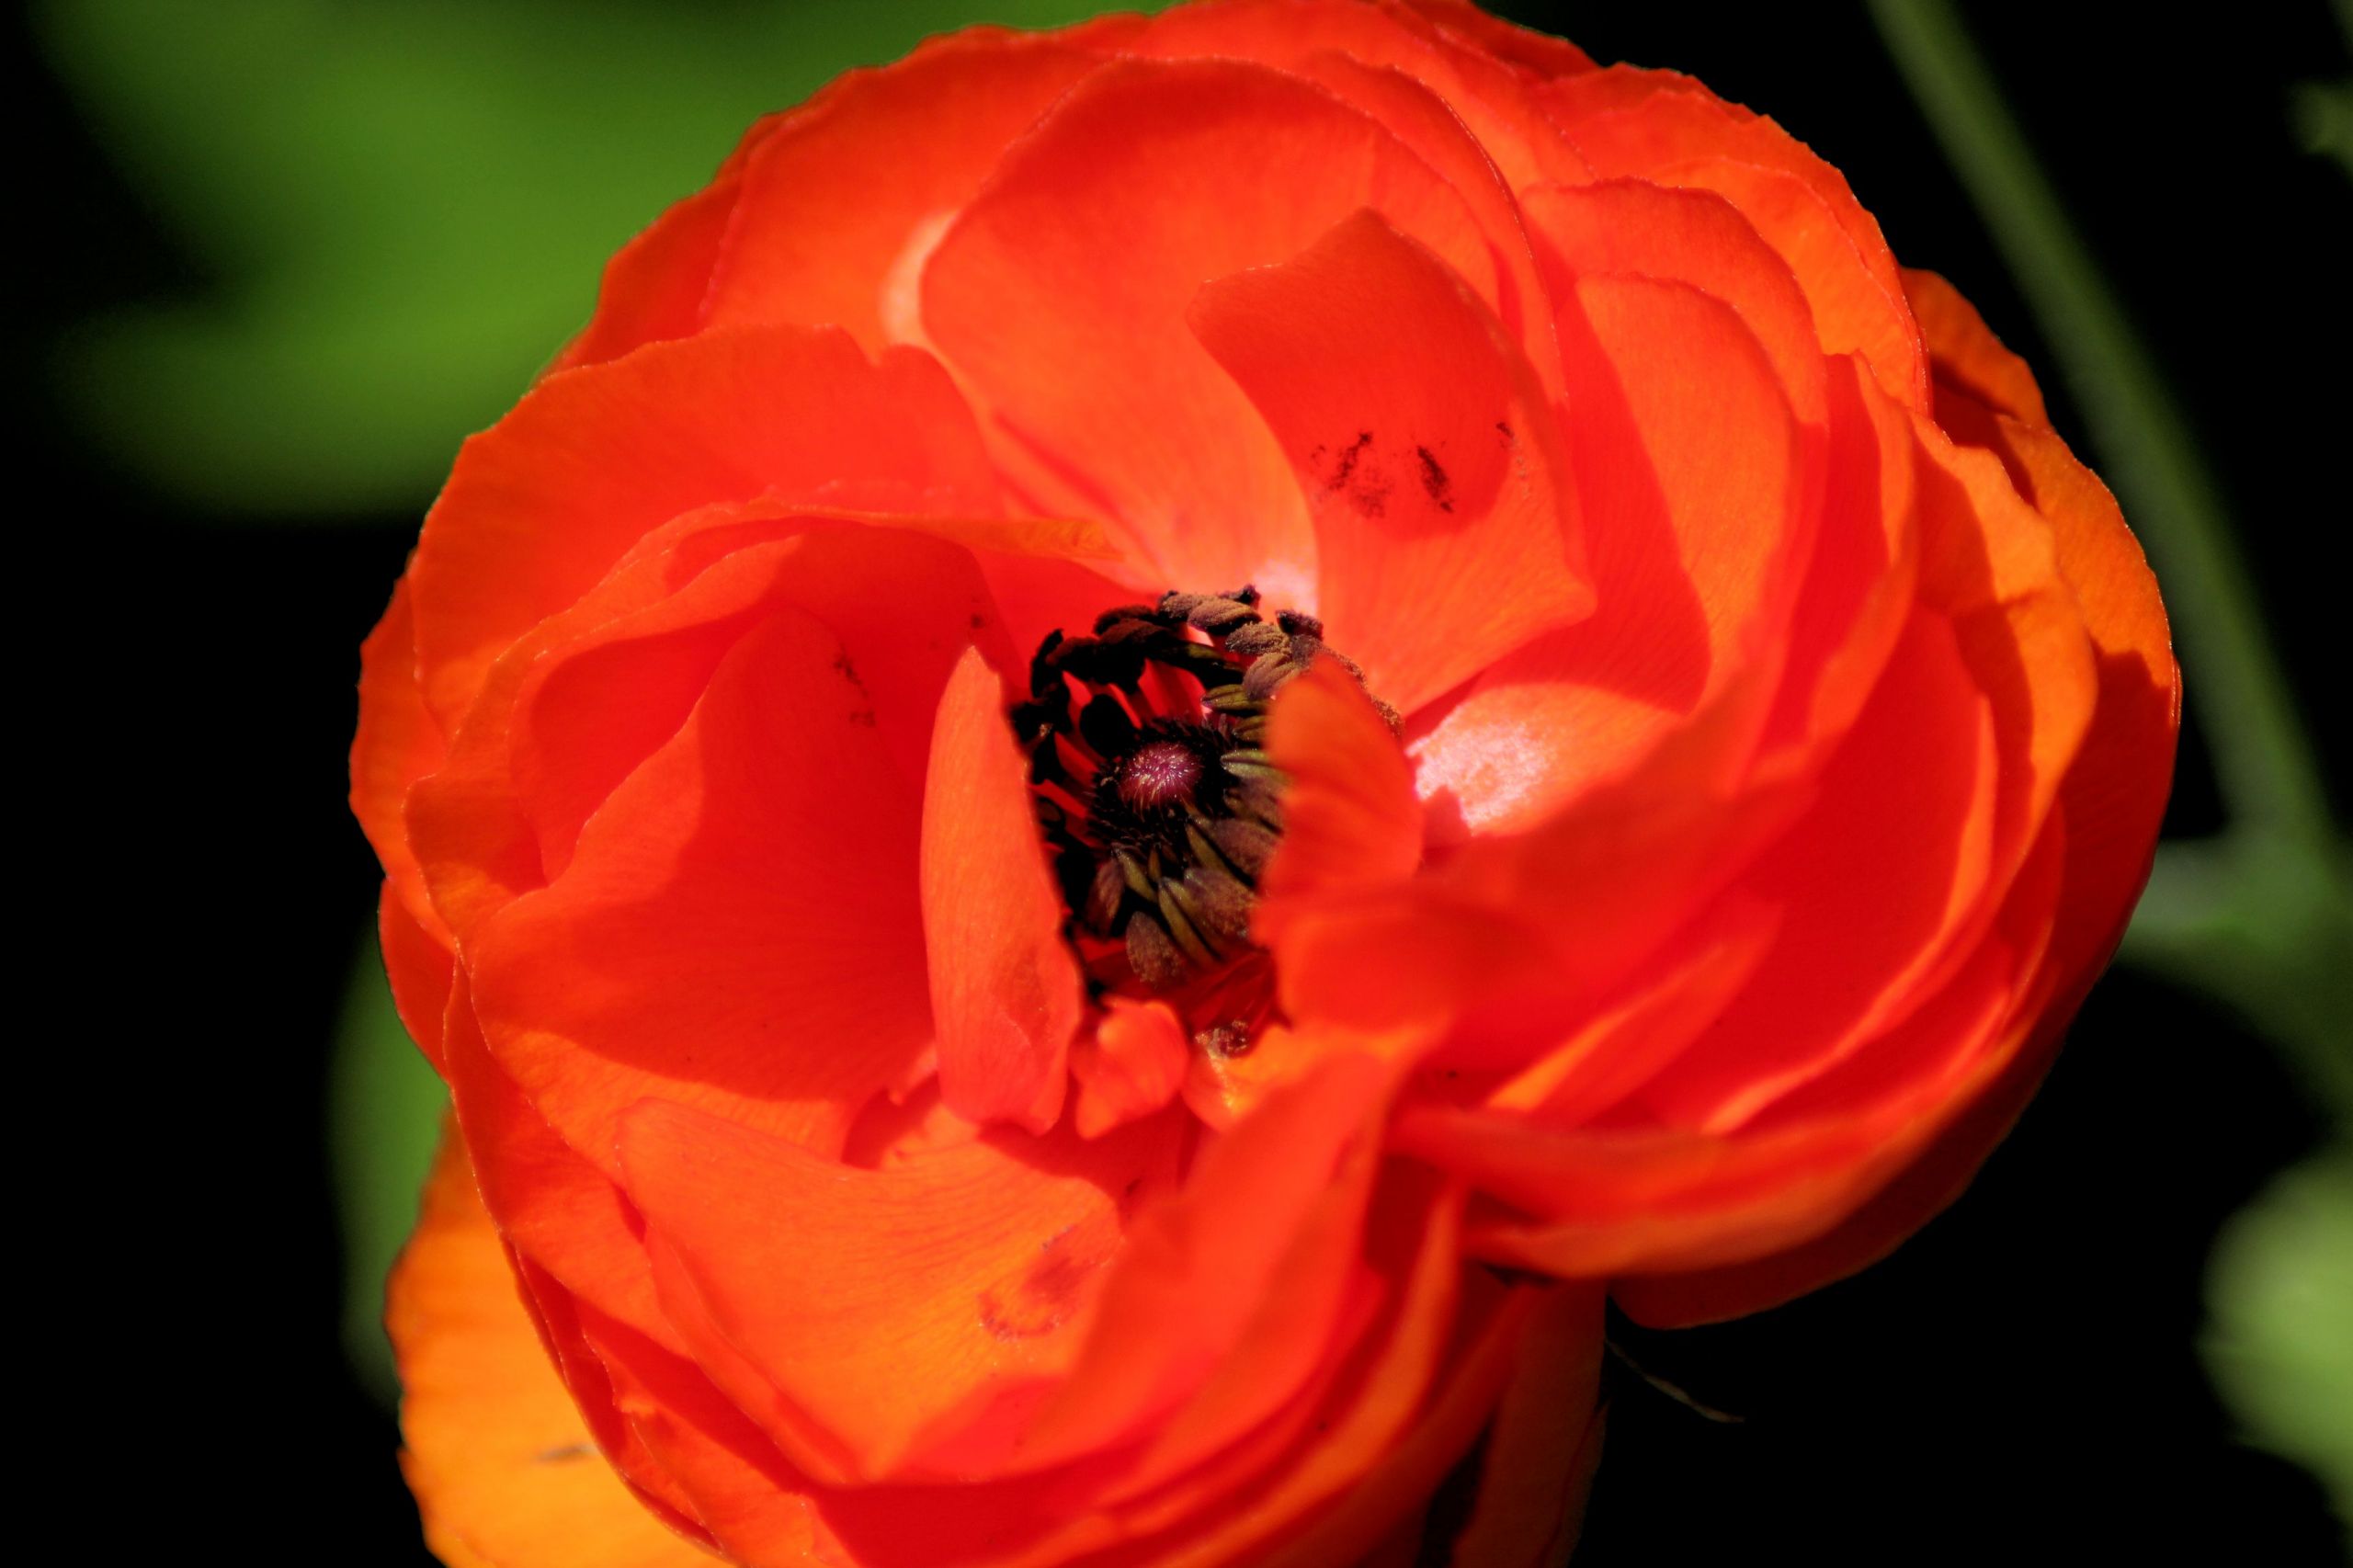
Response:
[{"label": "large rounded top petal curving behind the dark-smudged petal", "polygon": [[1315,572],[1299,487],[1181,313],[1367,202],[1492,290],[1454,188],[1329,92],[1231,59],[1118,61],[941,238],[922,323],[1035,499],[1106,516],[1162,586],[1297,600]]}]

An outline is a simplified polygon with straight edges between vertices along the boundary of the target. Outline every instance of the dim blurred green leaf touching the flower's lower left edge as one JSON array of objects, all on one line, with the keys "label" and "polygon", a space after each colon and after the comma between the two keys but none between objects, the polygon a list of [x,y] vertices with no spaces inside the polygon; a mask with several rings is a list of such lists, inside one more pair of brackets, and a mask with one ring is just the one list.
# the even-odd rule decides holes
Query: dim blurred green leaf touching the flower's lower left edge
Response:
[{"label": "dim blurred green leaf touching the flower's lower left edge", "polygon": [[384,1337],[384,1276],[416,1224],[449,1095],[393,1012],[376,939],[344,989],[327,1067],[327,1151],[344,1229],[344,1354],[384,1403],[400,1384]]}]

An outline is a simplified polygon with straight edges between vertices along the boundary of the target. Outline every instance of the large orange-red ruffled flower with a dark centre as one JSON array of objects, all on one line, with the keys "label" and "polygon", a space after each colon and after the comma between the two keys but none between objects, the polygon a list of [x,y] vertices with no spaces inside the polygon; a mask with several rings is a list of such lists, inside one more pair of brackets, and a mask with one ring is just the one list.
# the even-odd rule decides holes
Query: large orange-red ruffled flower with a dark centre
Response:
[{"label": "large orange-red ruffled flower with a dark centre", "polygon": [[1602,1293],[1951,1198],[2174,718],[2024,365],[1687,78],[1459,0],[854,73],[367,643],[428,1537],[1409,1561],[1485,1431],[1452,1561],[1551,1561]]}]

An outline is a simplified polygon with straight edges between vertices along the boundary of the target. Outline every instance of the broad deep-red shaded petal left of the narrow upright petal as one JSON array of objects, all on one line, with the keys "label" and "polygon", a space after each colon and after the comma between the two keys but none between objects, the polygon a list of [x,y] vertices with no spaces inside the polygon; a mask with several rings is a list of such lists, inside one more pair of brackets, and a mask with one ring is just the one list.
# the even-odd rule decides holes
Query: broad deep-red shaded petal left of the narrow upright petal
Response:
[{"label": "broad deep-red shaded petal left of the narrow upright petal", "polygon": [[932,1041],[918,800],[840,643],[776,610],[471,951],[492,1057],[619,1177],[654,1095],[840,1149]]}]

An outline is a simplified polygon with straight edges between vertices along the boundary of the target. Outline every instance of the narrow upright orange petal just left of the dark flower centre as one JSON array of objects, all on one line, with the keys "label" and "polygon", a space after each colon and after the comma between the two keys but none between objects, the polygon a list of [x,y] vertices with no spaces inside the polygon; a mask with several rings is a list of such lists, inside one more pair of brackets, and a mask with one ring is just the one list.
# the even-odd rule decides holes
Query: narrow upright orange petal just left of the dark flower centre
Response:
[{"label": "narrow upright orange petal just left of the dark flower centre", "polygon": [[939,1092],[972,1123],[1045,1132],[1061,1116],[1082,1010],[1078,958],[1005,687],[979,647],[939,697],[922,791],[922,935],[939,1029]]}]

